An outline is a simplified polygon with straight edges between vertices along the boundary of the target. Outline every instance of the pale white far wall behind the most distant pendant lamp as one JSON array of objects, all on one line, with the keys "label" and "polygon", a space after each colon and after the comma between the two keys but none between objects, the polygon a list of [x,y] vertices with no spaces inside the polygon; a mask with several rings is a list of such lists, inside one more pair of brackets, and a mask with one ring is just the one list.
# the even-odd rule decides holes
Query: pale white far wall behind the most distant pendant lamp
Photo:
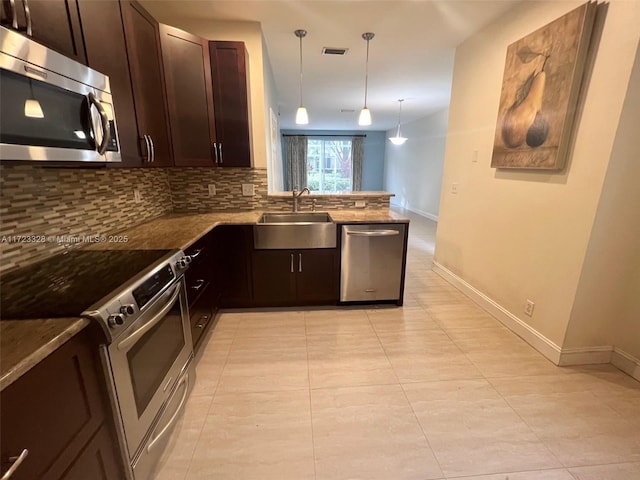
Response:
[{"label": "pale white far wall behind the most distant pendant lamp", "polygon": [[[386,141],[384,190],[396,196],[391,203],[438,220],[448,110],[406,123],[404,145]],[[387,137],[396,134],[389,130]]]}]

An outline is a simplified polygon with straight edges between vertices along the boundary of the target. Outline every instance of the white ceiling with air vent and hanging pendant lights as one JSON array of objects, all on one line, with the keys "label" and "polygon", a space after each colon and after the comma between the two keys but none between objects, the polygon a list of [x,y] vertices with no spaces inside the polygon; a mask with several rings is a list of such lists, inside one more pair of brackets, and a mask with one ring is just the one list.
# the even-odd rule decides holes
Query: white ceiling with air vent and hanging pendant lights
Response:
[{"label": "white ceiling with air vent and hanging pendant lights", "polygon": [[[299,103],[299,40],[303,39],[305,130],[388,130],[449,104],[455,47],[521,0],[395,1],[143,1],[159,19],[260,22],[278,91],[281,128],[296,128]],[[171,23],[171,22],[167,22]],[[364,102],[366,42],[369,45],[369,127],[358,126]],[[326,46],[346,55],[323,55]],[[345,112],[354,110],[354,112]]]}]

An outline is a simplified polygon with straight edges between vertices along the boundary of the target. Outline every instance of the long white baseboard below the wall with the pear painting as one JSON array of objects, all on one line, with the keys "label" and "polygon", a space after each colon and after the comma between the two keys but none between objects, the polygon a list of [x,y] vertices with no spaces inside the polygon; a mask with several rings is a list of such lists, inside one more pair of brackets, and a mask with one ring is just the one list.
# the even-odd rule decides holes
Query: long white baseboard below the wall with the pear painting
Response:
[{"label": "long white baseboard below the wall with the pear painting", "polygon": [[562,349],[558,345],[553,343],[540,332],[531,328],[506,308],[497,304],[490,297],[464,281],[449,269],[440,265],[438,262],[433,262],[433,271],[461,290],[465,295],[471,298],[491,315],[496,317],[505,327],[521,337],[542,355],[547,357],[556,365],[560,364]]}]

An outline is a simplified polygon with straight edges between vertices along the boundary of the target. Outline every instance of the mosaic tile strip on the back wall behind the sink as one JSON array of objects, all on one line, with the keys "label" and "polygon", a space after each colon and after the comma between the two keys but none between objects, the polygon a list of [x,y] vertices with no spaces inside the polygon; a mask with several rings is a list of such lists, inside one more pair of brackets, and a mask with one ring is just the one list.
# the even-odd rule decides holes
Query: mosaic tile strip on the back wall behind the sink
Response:
[{"label": "mosaic tile strip on the back wall behind the sink", "polygon": [[[246,168],[180,168],[169,170],[169,183],[173,209],[176,213],[206,213],[245,210],[291,210],[289,198],[268,196],[266,169]],[[242,196],[242,184],[253,183],[255,195]],[[216,195],[209,196],[208,185],[216,187]],[[355,202],[364,200],[367,209],[389,208],[388,195],[336,195],[307,196],[300,200],[300,210],[336,210],[355,208]]]}]

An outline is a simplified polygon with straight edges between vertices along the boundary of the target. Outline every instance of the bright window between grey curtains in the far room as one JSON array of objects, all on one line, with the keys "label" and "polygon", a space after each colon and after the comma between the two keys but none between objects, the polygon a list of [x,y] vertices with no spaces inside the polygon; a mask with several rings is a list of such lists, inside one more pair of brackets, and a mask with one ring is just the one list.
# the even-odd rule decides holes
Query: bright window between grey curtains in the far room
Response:
[{"label": "bright window between grey curtains in the far room", "polygon": [[352,190],[351,139],[309,137],[307,187],[312,192],[345,193]]}]

